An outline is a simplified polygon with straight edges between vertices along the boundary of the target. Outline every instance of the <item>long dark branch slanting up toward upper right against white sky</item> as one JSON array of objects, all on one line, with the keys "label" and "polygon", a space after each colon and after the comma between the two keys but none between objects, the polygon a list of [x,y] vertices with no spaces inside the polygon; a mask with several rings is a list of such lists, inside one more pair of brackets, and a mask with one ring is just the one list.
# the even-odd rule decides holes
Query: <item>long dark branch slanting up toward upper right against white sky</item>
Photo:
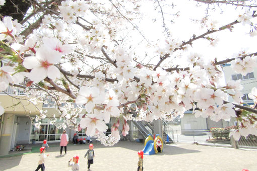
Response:
[{"label": "long dark branch slanting up toward upper right against white sky", "polygon": [[[253,18],[254,18],[254,17],[257,17],[257,15],[252,15],[252,17],[253,17]],[[195,41],[195,40],[204,38],[206,35],[209,35],[209,34],[212,34],[212,33],[215,33],[215,32],[219,32],[219,31],[225,30],[225,29],[227,29],[227,28],[231,28],[231,26],[233,26],[233,25],[235,25],[235,24],[237,24],[237,23],[240,23],[240,22],[238,22],[238,21],[236,20],[236,21],[234,21],[234,22],[232,22],[232,23],[229,23],[229,24],[227,24],[227,25],[224,25],[224,26],[220,27],[219,30],[211,30],[211,31],[208,30],[206,33],[204,33],[204,34],[202,34],[202,35],[200,35],[200,36],[196,36],[196,35],[194,34],[194,35],[193,35],[193,38],[190,38],[190,39],[189,39],[188,41],[186,41],[186,42],[183,41],[183,43],[180,45],[179,48],[175,48],[175,49],[174,49],[174,52],[177,51],[177,50],[182,49],[182,47],[185,46],[185,45],[187,45],[187,44],[190,44],[190,45],[191,45],[192,42]],[[165,54],[163,57],[161,57],[160,61],[159,61],[159,62],[157,63],[157,65],[154,67],[154,70],[156,70],[156,68],[159,67],[160,64],[161,64],[166,58],[168,58],[168,57],[169,57],[169,53],[168,53],[168,54]]]}]

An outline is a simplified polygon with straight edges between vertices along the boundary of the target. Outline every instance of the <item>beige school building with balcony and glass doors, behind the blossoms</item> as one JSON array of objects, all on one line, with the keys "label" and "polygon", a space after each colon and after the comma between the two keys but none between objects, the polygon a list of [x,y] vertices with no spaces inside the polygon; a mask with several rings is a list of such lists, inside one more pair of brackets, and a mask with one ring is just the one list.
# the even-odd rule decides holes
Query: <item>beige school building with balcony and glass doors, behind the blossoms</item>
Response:
[{"label": "beige school building with balcony and glass doors, behind the blossoms", "polygon": [[[0,156],[8,155],[10,150],[20,144],[43,143],[44,139],[47,142],[60,142],[60,135],[63,129],[59,126],[63,124],[63,121],[59,119],[60,115],[54,102],[48,100],[47,102],[45,101],[46,103],[43,103],[33,101],[32,99],[30,101],[34,103],[33,105],[26,100],[29,97],[18,88],[8,87],[5,92],[9,95],[4,92],[0,93],[0,102],[5,108],[5,113],[0,116]],[[76,104],[74,105],[76,106]],[[37,129],[34,126],[35,121],[32,117],[39,115],[40,110],[47,110],[48,118],[42,119],[40,121],[40,129]],[[85,113],[85,109],[83,109],[82,113]],[[51,116],[53,115],[57,118],[55,124],[51,124],[50,122],[52,119]],[[111,126],[115,122],[117,122],[116,118],[110,118],[110,122],[107,124],[108,130],[105,132],[106,135],[111,133]],[[128,121],[127,123],[130,126],[130,131],[129,135],[125,137],[121,134],[122,123],[119,125],[120,140],[142,141],[149,133],[158,133],[162,136],[161,121],[154,121],[152,127],[149,124],[146,126],[143,121]],[[67,127],[66,132],[72,142],[75,133],[74,128]],[[86,137],[84,129],[77,133],[79,138]]]}]

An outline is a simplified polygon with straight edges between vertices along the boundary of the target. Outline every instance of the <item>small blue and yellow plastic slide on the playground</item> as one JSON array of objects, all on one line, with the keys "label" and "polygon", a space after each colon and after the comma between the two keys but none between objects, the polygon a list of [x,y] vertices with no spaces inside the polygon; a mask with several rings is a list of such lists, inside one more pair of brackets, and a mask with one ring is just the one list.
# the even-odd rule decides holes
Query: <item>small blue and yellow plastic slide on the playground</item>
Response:
[{"label": "small blue and yellow plastic slide on the playground", "polygon": [[153,139],[152,134],[148,134],[148,137],[145,140],[145,147],[143,149],[144,154],[152,155],[158,152],[162,152],[163,141],[159,134],[156,134],[156,138]]}]

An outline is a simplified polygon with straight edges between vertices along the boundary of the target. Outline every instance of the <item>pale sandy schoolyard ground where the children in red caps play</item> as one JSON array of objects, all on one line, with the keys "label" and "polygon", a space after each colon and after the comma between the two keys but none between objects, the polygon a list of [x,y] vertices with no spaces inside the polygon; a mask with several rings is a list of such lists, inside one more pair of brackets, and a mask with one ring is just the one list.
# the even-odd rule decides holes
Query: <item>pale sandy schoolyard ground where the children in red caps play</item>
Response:
[{"label": "pale sandy schoolyard ground where the children in red caps play", "polygon": [[[49,157],[45,160],[45,171],[71,170],[68,161],[75,154],[80,156],[80,171],[86,169],[84,154],[88,144],[68,145],[68,154],[59,156],[59,147],[47,149]],[[137,170],[137,151],[143,149],[144,144],[121,141],[112,147],[94,144],[95,158],[91,165],[92,171],[133,171]],[[233,170],[241,171],[247,168],[257,170],[257,151],[242,150],[225,147],[212,147],[188,143],[165,145],[163,153],[144,156],[144,170]],[[0,170],[35,170],[39,153],[0,158]]]}]

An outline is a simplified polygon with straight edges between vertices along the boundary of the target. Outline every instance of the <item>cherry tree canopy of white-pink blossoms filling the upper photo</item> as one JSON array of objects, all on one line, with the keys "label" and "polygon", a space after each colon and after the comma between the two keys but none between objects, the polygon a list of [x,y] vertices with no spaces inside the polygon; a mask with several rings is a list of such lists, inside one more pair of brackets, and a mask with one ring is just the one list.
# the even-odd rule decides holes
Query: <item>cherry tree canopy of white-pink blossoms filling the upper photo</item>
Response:
[{"label": "cherry tree canopy of white-pink blossoms filling the upper photo", "polygon": [[[224,34],[254,37],[255,1],[24,2],[31,6],[21,22],[8,16],[0,21],[0,90],[10,85],[33,101],[50,98],[64,120],[62,127],[86,129],[113,145],[120,138],[120,123],[125,136],[128,120],[173,120],[192,110],[214,121],[235,117],[239,128],[230,135],[236,140],[257,135],[257,105],[243,106],[240,80],[220,83],[222,64],[245,75],[256,67],[257,52],[228,48],[233,55],[201,54],[225,41]],[[222,11],[210,8],[215,4]],[[230,15],[222,16],[231,7]],[[183,15],[189,20],[183,21]],[[249,97],[256,104],[256,88]],[[45,117],[46,111],[40,111],[35,125]],[[105,136],[110,117],[116,122]],[[57,120],[50,119],[53,124]]]}]

